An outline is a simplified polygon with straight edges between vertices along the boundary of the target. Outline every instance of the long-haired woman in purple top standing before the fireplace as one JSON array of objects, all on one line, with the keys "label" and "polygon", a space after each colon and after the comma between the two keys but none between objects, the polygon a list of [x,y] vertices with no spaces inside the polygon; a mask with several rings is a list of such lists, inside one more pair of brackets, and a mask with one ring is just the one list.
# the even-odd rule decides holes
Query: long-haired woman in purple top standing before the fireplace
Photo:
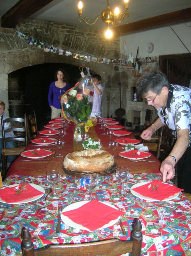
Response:
[{"label": "long-haired woman in purple top standing before the fireplace", "polygon": [[52,109],[51,118],[60,117],[60,114],[62,116],[62,110],[58,96],[65,93],[68,89],[70,89],[70,85],[69,83],[67,83],[65,79],[63,69],[60,68],[56,71],[55,80],[56,79],[57,81],[52,82],[50,84],[48,92],[48,103]]}]

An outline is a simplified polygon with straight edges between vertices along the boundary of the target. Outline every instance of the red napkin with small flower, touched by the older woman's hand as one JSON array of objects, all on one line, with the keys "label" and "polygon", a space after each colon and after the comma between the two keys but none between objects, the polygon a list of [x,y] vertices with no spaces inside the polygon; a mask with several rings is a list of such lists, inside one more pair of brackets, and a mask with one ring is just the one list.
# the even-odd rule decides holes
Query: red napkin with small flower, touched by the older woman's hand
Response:
[{"label": "red napkin with small flower, touched by the older woman's hand", "polygon": [[168,183],[163,183],[162,180],[154,180],[140,187],[133,188],[132,190],[143,196],[162,201],[184,189],[177,188],[175,185],[171,186]]}]

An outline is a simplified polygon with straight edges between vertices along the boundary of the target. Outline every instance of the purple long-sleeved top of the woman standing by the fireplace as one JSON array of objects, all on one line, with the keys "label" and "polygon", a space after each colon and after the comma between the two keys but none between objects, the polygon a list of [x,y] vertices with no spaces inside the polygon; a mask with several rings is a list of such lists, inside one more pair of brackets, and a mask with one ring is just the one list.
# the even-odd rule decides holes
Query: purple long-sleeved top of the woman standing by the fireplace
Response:
[{"label": "purple long-sleeved top of the woman standing by the fireplace", "polygon": [[53,106],[55,108],[61,109],[60,101],[58,96],[65,93],[70,89],[69,83],[66,83],[66,86],[63,88],[58,88],[55,86],[55,82],[50,84],[49,92],[48,92],[48,104],[49,106]]}]

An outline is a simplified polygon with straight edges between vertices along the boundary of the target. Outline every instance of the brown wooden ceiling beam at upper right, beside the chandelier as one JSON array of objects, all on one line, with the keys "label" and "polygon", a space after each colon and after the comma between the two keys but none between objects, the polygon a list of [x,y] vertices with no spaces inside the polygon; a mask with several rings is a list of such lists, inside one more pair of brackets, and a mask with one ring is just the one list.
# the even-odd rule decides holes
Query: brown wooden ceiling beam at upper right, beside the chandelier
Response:
[{"label": "brown wooden ceiling beam at upper right, beside the chandelier", "polygon": [[191,8],[162,14],[159,16],[139,20],[129,24],[117,26],[113,29],[115,36],[137,33],[153,28],[170,26],[191,20]]}]

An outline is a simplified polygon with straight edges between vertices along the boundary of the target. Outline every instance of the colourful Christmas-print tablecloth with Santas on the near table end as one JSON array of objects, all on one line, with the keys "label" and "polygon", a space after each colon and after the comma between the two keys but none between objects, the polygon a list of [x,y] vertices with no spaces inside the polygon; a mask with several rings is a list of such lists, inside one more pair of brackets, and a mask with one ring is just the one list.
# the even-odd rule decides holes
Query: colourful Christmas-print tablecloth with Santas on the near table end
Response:
[{"label": "colourful Christmas-print tablecloth with Santas on the near table end", "polygon": [[[79,180],[76,177],[65,176],[56,184],[57,192],[62,194],[60,201],[44,201],[44,195],[26,204],[1,203],[0,255],[20,255],[20,232],[23,226],[29,229],[35,248],[39,248],[45,244],[84,243],[116,237],[126,241],[130,239],[137,218],[142,224],[142,256],[190,255],[191,204],[182,192],[179,197],[164,202],[146,201],[130,192],[131,186],[136,183],[161,178],[161,174],[132,174],[125,183],[127,193],[123,197],[117,194],[121,189],[121,183],[116,180],[115,175],[99,178],[99,184],[92,195],[97,200],[115,205],[123,212],[122,223],[126,236],[123,236],[118,223],[106,229],[88,232],[71,228],[62,221],[61,233],[56,234],[58,204],[67,206],[88,199],[88,191],[83,187],[76,187],[75,181]],[[45,189],[49,186],[45,176],[9,176],[5,179],[4,185],[24,182],[33,182]]]}]

